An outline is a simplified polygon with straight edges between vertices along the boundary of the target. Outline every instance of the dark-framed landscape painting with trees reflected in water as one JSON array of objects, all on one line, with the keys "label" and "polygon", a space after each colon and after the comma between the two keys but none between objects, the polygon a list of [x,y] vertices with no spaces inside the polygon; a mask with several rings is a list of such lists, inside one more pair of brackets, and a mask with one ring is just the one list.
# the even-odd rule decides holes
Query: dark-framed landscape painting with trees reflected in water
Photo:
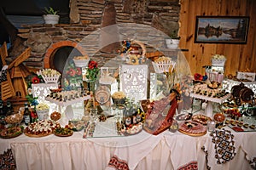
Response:
[{"label": "dark-framed landscape painting with trees reflected in water", "polygon": [[249,17],[196,16],[195,43],[247,43]]}]

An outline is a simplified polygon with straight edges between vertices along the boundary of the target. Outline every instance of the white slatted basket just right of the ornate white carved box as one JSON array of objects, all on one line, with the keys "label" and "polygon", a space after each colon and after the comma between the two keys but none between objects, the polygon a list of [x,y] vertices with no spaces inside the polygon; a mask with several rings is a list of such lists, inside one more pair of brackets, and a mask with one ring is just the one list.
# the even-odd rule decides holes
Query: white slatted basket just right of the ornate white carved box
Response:
[{"label": "white slatted basket just right of the ornate white carved box", "polygon": [[[171,66],[172,66],[172,70],[173,70],[174,66],[176,65],[176,62],[174,62],[172,60],[166,60],[166,61],[159,61],[157,63],[152,62],[152,65],[153,65],[154,71],[156,73],[163,73],[163,72],[169,72]],[[171,72],[172,72],[172,70],[171,70]]]}]

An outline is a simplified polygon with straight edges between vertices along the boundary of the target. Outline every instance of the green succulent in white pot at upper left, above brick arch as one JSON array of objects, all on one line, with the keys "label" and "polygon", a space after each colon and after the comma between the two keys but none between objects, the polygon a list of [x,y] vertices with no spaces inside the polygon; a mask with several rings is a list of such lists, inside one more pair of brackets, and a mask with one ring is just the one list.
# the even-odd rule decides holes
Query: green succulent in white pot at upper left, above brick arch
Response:
[{"label": "green succulent in white pot at upper left, above brick arch", "polygon": [[60,20],[60,15],[58,15],[58,11],[56,11],[54,8],[44,8],[44,23],[45,24],[58,24]]}]

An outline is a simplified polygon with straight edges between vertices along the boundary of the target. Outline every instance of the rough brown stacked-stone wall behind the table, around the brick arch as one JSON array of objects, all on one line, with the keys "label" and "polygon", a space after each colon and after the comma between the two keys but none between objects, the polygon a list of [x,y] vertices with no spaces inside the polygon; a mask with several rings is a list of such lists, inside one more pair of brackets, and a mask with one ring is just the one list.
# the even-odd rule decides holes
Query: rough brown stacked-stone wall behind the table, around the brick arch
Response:
[{"label": "rough brown stacked-stone wall behind the table, around the brick arch", "polygon": [[[104,60],[116,56],[116,43],[107,44],[108,48],[99,50],[102,47],[101,42],[112,38],[108,36],[113,36],[113,31],[119,31],[117,35],[121,35],[114,38],[135,37],[143,40],[145,44],[158,43],[160,48],[165,45],[164,36],[154,33],[150,35],[143,25],[152,26],[167,35],[173,31],[177,34],[179,28],[178,0],[72,0],[70,8],[70,24],[22,26],[19,36],[26,39],[26,47],[32,48],[32,56],[26,59],[26,65],[43,68],[47,48],[55,42],[67,40],[82,44],[86,52],[93,54],[102,64]],[[126,26],[117,26],[110,32],[99,31],[105,26],[124,23],[137,23],[140,28],[136,32],[130,31]],[[152,47],[148,45],[147,51],[150,50]]]}]

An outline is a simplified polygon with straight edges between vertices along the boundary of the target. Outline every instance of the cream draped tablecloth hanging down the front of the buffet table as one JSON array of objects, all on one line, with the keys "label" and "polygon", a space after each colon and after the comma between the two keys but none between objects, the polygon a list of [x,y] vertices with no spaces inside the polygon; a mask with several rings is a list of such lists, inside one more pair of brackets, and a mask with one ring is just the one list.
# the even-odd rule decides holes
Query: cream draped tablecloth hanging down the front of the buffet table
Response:
[{"label": "cream draped tablecloth hanging down the front of the buffet table", "polygon": [[15,139],[1,139],[0,153],[11,149],[17,169],[115,169],[110,160],[129,169],[253,169],[256,133],[225,128],[234,134],[236,156],[222,164],[214,157],[209,132],[191,137],[168,130],[157,136],[142,131],[125,137],[91,139],[83,139],[83,131],[71,137],[52,134],[30,138],[21,134]]}]

